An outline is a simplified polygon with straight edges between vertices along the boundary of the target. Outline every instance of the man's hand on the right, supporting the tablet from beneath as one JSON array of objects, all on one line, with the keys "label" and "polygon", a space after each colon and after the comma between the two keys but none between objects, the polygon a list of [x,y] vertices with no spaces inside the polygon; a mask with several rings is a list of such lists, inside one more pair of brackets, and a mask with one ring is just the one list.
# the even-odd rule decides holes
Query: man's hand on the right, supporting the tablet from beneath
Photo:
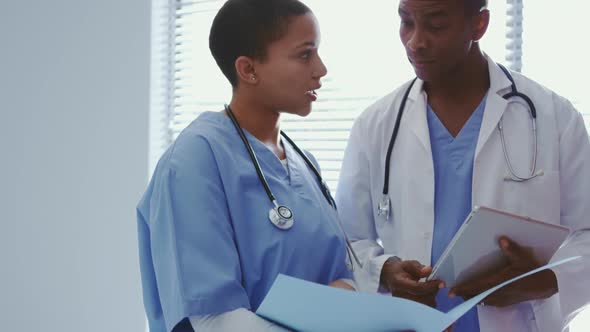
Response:
[{"label": "man's hand on the right, supporting the tablet from beneath", "polygon": [[[500,238],[500,248],[508,264],[498,271],[466,282],[451,289],[449,296],[470,299],[506,280],[529,272],[540,266],[530,250],[522,248],[507,237]],[[557,278],[551,270],[544,270],[507,285],[484,299],[486,305],[505,307],[529,300],[545,299],[557,293]]]}]

